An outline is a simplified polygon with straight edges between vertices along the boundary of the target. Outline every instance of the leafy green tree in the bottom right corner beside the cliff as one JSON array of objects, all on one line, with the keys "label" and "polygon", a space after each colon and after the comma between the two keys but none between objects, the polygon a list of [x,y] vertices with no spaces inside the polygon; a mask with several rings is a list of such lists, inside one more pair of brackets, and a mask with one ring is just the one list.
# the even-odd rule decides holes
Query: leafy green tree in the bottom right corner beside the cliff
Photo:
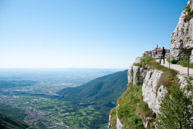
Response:
[{"label": "leafy green tree in the bottom right corner beside the cliff", "polygon": [[[187,93],[189,93],[187,95]],[[185,89],[180,86],[171,86],[169,94],[161,103],[160,114],[156,121],[158,129],[192,129],[193,118],[193,86],[188,85]]]}]

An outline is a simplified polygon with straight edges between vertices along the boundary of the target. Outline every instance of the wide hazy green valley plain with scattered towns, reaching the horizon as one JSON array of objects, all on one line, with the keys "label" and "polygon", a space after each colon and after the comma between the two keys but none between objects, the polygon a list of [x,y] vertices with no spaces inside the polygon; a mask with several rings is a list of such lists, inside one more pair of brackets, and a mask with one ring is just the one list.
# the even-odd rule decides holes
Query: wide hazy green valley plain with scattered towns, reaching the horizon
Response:
[{"label": "wide hazy green valley plain with scattered towns, reaching the horizon", "polygon": [[94,101],[64,100],[57,91],[113,72],[8,72],[0,75],[0,112],[39,129],[107,128],[111,107],[101,107]]}]

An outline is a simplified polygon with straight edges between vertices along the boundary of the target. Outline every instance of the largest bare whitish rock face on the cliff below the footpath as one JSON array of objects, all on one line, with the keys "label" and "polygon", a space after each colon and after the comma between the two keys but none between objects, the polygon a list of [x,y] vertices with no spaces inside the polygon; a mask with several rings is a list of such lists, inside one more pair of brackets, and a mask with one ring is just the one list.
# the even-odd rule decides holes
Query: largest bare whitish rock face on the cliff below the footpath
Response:
[{"label": "largest bare whitish rock face on the cliff below the footpath", "polygon": [[160,70],[147,70],[139,66],[132,66],[128,70],[128,83],[142,84],[143,100],[148,104],[149,108],[155,112],[159,112],[160,103],[167,90],[165,86],[158,85],[162,75]]}]

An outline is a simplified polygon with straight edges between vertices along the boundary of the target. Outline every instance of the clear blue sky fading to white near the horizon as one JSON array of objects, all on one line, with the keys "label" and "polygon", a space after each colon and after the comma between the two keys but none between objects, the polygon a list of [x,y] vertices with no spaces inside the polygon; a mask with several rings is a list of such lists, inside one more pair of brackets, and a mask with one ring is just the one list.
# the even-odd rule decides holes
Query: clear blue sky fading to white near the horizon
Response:
[{"label": "clear blue sky fading to white near the horizon", "polygon": [[129,68],[188,0],[0,0],[0,68]]}]

